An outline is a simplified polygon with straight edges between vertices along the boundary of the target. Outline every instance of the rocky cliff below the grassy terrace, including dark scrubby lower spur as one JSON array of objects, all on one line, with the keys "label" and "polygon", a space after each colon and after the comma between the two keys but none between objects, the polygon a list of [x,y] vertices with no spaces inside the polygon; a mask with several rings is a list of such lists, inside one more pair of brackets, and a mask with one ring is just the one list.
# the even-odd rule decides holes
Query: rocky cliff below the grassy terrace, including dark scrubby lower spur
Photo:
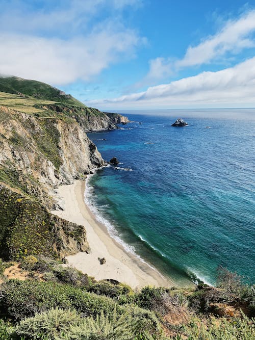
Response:
[{"label": "rocky cliff below the grassy terrace, including dark scrubby lower spur", "polygon": [[[0,108],[0,257],[89,251],[86,230],[49,213],[55,188],[104,164],[75,120]],[[53,198],[55,197],[55,198]]]}]

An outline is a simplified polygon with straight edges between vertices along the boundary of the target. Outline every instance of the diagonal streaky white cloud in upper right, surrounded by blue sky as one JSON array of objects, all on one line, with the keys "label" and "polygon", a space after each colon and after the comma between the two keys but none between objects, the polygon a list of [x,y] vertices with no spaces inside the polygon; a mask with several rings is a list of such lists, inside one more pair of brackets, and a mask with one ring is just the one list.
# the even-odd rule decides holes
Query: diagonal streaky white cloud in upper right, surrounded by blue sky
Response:
[{"label": "diagonal streaky white cloud in upper right, surrounded by blue sky", "polygon": [[153,84],[159,79],[166,79],[172,72],[181,68],[217,62],[228,53],[235,55],[245,48],[255,47],[255,40],[251,36],[254,32],[255,11],[253,10],[236,20],[228,20],[215,35],[207,37],[196,46],[189,46],[183,59],[150,60],[147,75],[135,85],[135,88]]}]

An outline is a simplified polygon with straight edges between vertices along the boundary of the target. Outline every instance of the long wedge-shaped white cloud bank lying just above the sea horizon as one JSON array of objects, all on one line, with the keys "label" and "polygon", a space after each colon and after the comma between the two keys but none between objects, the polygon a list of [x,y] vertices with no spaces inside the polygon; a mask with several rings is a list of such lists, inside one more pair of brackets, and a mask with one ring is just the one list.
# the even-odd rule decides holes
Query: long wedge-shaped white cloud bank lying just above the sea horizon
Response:
[{"label": "long wedge-shaped white cloud bank lying just above the sea horizon", "polygon": [[255,105],[255,57],[217,72],[202,72],[169,84],[114,99],[92,100],[101,109],[233,107]]}]

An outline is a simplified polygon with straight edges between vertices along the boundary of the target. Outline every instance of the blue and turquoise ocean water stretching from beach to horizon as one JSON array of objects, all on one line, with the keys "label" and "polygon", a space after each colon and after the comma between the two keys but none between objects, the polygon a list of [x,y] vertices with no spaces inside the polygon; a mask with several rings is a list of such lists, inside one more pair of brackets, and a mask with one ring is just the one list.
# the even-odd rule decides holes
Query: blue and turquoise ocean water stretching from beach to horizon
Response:
[{"label": "blue and turquoise ocean water stretching from beach to horizon", "polygon": [[255,281],[255,121],[129,118],[142,124],[88,134],[105,160],[133,170],[89,178],[110,232],[176,283],[213,284],[219,265]]}]

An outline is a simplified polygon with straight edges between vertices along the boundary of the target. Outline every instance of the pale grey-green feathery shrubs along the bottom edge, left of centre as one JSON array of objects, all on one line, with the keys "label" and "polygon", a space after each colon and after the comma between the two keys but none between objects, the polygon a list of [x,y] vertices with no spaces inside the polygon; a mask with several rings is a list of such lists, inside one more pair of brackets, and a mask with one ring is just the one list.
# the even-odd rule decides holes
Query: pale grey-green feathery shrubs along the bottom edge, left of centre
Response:
[{"label": "pale grey-green feathery shrubs along the bottom edge, left of centre", "polygon": [[130,340],[134,337],[136,320],[129,314],[118,316],[114,309],[111,317],[100,313],[96,318],[82,318],[75,310],[50,309],[22,320],[13,336],[36,339],[42,334],[47,340]]}]

